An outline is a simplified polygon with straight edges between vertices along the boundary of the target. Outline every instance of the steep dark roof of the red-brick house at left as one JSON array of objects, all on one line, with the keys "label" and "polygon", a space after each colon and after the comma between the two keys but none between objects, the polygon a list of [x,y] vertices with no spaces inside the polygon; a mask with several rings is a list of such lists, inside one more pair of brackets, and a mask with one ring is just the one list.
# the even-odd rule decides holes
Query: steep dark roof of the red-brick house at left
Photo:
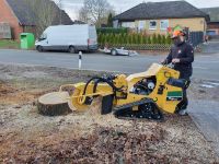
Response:
[{"label": "steep dark roof of the red-brick house at left", "polygon": [[[21,25],[36,25],[36,14],[34,10],[30,7],[31,4],[27,3],[28,0],[5,0],[5,1],[8,2],[11,10],[18,17]],[[56,5],[55,2],[50,0],[44,0],[44,1],[45,3],[50,3],[57,13],[60,12],[60,9]],[[59,24],[59,15],[60,14],[57,14],[56,19],[53,22],[53,25]],[[65,11],[61,11],[61,19],[62,19],[61,21],[62,24],[72,24],[71,19]]]}]

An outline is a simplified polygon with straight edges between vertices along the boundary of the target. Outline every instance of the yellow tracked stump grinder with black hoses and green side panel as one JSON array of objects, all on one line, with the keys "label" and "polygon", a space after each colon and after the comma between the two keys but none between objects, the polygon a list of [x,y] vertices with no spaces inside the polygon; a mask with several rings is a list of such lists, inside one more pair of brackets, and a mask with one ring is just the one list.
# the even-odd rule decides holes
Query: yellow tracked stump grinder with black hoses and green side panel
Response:
[{"label": "yellow tracked stump grinder with black hoses and green side panel", "polygon": [[[67,105],[76,112],[89,109],[94,98],[101,96],[102,115],[113,112],[117,118],[162,120],[162,113],[176,113],[183,99],[186,81],[178,77],[180,72],[170,65],[153,63],[146,72],[128,77],[125,74],[93,77],[87,83],[62,85],[58,93],[65,94],[62,97],[67,99]],[[39,97],[41,113],[47,113],[51,105],[61,104],[61,101],[53,104],[53,97],[58,98],[60,95],[58,93]],[[42,102],[49,97],[51,103],[46,106],[46,110],[42,107]]]}]

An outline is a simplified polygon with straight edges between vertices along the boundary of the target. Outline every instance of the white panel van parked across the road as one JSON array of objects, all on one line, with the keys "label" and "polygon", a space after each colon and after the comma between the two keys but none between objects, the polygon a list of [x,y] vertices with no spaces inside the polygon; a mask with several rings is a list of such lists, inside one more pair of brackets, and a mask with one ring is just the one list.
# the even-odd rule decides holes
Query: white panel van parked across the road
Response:
[{"label": "white panel van parked across the road", "polygon": [[38,51],[43,50],[79,50],[97,49],[97,36],[94,25],[57,25],[47,27],[35,43]]}]

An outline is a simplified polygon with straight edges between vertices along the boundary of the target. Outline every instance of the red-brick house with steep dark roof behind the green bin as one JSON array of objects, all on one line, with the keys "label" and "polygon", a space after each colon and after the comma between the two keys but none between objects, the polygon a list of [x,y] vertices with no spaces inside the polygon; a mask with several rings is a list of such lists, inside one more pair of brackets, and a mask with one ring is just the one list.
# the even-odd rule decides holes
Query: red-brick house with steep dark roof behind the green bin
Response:
[{"label": "red-brick house with steep dark roof behind the green bin", "polygon": [[[31,0],[34,1],[34,0]],[[37,1],[37,0],[36,0]],[[53,25],[72,24],[68,14],[60,10],[55,2],[50,0],[44,0],[45,3],[50,3],[57,14],[53,21]],[[37,1],[38,2],[38,1]],[[61,16],[61,22],[59,21]],[[23,32],[36,32],[36,15],[27,0],[0,0],[0,23],[8,23],[11,26],[12,38],[19,39],[20,34]]]}]

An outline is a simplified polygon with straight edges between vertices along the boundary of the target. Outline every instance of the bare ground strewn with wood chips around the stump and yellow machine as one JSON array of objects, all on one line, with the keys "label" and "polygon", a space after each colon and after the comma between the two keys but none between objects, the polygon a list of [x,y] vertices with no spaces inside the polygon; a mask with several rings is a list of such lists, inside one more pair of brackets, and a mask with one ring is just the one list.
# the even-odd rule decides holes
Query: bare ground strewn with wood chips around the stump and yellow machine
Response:
[{"label": "bare ground strewn with wood chips around the stump and yellow machine", "polygon": [[[97,103],[87,113],[38,114],[34,102],[39,95],[95,73],[0,66],[0,163],[219,162],[188,116],[165,115],[164,122],[120,120],[97,115]],[[194,83],[189,95],[198,90]]]}]

